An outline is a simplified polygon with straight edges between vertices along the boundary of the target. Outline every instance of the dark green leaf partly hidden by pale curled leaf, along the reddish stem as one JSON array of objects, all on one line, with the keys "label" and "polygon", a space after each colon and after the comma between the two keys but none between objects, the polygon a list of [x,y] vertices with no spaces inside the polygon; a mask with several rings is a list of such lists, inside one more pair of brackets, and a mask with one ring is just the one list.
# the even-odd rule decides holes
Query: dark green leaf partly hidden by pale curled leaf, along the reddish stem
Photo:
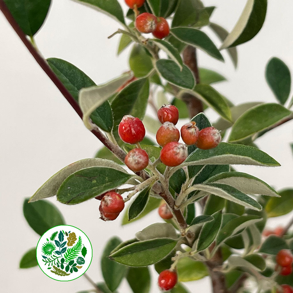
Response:
[{"label": "dark green leaf partly hidden by pale curled leaf, along the reddish stem", "polygon": [[[76,102],[78,102],[79,91],[82,88],[96,85],[83,71],[65,60],[49,58],[47,62]],[[105,101],[100,107],[96,108],[90,117],[102,130],[111,131],[113,127],[113,114],[108,101]]]}]

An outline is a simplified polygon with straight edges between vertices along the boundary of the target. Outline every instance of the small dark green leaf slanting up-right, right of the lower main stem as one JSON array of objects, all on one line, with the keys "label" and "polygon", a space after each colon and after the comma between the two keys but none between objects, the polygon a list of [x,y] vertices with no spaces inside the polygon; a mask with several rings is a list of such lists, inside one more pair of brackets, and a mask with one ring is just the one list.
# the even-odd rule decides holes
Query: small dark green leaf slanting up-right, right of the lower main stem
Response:
[{"label": "small dark green leaf slanting up-right, right of the lower main stem", "polygon": [[216,239],[222,224],[222,211],[212,214],[212,221],[203,225],[197,240],[196,251],[202,251],[208,248]]}]

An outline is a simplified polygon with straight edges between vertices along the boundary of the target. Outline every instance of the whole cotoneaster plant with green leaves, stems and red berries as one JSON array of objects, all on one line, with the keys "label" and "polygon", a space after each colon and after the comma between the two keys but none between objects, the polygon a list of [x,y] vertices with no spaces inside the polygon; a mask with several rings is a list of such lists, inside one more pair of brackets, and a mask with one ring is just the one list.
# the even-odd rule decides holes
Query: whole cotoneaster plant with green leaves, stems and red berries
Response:
[{"label": "whole cotoneaster plant with green leaves, stems and red berries", "polygon": [[[276,103],[234,105],[211,85],[225,78],[199,68],[196,55],[202,50],[224,61],[220,50],[227,50],[236,67],[236,47],[261,29],[267,0],[247,0],[230,33],[212,22],[215,7],[200,0],[125,0],[128,11],[122,10],[122,0],[76,2],[117,21],[117,31],[109,38],[121,35],[118,54],[132,46],[130,71],[125,68],[124,74],[97,86],[68,61],[44,59],[34,35],[51,1],[16,5],[13,0],[0,0],[1,11],[24,45],[104,145],[95,158],[65,166],[25,199],[28,224],[40,235],[45,232],[43,222],[50,227],[64,224],[60,211],[44,200],[54,195],[67,205],[96,204],[97,225],[109,227],[113,220],[127,225],[158,209],[162,221],[150,223],[134,239],[121,240],[109,228],[103,236],[110,240],[100,252],[104,281],[96,284],[85,274],[92,289],[84,292],[117,292],[126,278],[134,293],[148,293],[149,267],[154,266],[158,290],[171,293],[197,292],[197,282],[190,285],[191,291],[183,282],[206,276],[214,293],[253,293],[256,288],[261,293],[292,293],[293,219],[275,231],[265,226],[269,217],[292,213],[293,189],[277,192],[234,169],[280,165],[255,142],[293,118],[290,71],[273,57],[265,77]],[[221,40],[220,50],[210,31]],[[239,85],[239,91],[245,86]],[[153,115],[146,113],[147,105]],[[208,108],[219,115],[216,121],[205,115]],[[180,133],[178,120],[185,123]],[[157,135],[158,144],[150,132]],[[50,253],[50,249],[45,250]],[[31,249],[20,267],[35,265],[35,249]]]}]

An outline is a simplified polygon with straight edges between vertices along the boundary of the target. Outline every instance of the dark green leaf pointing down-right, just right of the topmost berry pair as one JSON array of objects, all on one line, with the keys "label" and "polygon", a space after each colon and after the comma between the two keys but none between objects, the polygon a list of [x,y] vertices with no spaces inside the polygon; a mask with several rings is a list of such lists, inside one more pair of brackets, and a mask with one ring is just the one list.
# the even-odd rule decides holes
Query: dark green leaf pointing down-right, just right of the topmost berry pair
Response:
[{"label": "dark green leaf pointing down-right, just right of the topmost berry pair", "polygon": [[171,33],[181,42],[205,51],[210,56],[224,61],[224,58],[212,40],[196,28],[172,28]]}]

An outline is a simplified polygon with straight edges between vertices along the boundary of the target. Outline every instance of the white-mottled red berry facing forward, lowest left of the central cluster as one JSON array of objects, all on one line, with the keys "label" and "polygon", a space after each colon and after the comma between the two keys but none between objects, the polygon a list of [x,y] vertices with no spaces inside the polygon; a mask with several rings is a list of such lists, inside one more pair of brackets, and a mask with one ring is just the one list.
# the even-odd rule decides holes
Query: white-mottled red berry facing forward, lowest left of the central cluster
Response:
[{"label": "white-mottled red berry facing forward, lowest left of the central cluster", "polygon": [[133,172],[139,172],[149,164],[149,155],[143,149],[132,149],[125,157],[125,165]]}]

